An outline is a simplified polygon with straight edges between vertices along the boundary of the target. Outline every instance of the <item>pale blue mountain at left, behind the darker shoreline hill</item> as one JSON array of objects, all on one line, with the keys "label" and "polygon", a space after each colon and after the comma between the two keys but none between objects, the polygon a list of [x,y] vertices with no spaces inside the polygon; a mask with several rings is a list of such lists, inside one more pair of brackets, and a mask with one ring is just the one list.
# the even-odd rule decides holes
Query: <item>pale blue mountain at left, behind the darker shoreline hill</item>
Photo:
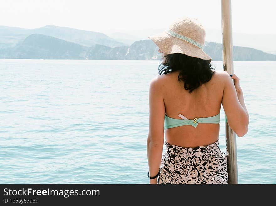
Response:
[{"label": "pale blue mountain at left, behind the darker shoreline hill", "polygon": [[23,29],[18,27],[0,26],[0,48],[13,47],[17,43],[22,42],[30,34],[48,35],[88,47],[96,44],[109,47],[125,45],[100,32],[73,29],[69,27],[46,25],[36,29]]}]

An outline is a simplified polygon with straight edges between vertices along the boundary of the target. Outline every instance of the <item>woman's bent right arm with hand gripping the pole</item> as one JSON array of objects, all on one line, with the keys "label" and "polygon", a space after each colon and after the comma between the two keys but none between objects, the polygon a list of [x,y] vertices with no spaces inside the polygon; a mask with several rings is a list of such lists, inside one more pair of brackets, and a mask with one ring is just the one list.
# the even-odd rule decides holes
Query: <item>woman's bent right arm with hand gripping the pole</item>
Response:
[{"label": "woman's bent right arm with hand gripping the pole", "polygon": [[224,76],[225,87],[223,90],[222,106],[229,126],[236,135],[242,137],[248,131],[249,114],[244,103],[239,78],[233,74],[233,83],[233,80],[226,71],[224,72]]}]

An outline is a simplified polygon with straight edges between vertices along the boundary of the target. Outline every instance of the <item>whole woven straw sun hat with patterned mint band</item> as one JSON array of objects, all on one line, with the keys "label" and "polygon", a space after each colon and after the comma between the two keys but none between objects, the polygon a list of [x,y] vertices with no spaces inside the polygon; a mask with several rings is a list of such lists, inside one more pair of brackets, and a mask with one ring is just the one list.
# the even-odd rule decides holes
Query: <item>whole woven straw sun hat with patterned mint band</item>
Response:
[{"label": "whole woven straw sun hat with patterned mint band", "polygon": [[205,29],[197,18],[177,18],[163,33],[149,36],[166,54],[182,53],[203,60],[212,60],[202,48]]}]

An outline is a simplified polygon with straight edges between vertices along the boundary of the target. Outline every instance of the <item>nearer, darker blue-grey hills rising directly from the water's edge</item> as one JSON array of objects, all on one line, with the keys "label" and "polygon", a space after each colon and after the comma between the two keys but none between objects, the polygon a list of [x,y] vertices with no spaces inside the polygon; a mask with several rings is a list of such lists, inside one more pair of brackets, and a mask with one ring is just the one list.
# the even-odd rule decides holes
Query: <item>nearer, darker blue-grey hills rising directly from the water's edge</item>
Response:
[{"label": "nearer, darker blue-grey hills rising directly from the water's edge", "polygon": [[[212,59],[222,60],[222,45],[205,42],[203,50]],[[234,60],[272,60],[276,55],[249,47],[234,46]],[[161,60],[152,40],[135,41],[130,46],[109,47],[95,44],[83,46],[49,35],[31,34],[12,48],[0,48],[0,58],[7,59],[102,59],[102,60]]]}]

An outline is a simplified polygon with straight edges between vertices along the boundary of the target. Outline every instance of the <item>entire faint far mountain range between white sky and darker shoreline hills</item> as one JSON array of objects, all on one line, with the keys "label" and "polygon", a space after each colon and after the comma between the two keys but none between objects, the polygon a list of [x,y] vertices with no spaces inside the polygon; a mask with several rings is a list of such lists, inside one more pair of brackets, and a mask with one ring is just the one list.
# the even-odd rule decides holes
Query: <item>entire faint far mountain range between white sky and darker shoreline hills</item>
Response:
[{"label": "entire faint far mountain range between white sky and darker shoreline hills", "polygon": [[[24,41],[30,34],[43,34],[56,37],[61,40],[77,43],[82,46],[105,45],[108,47],[131,46],[139,40],[149,40],[148,36],[162,33],[163,29],[143,29],[120,32],[106,30],[104,33],[46,25],[36,29],[24,29],[19,27],[0,26],[0,49],[14,47]],[[205,29],[206,42],[221,43],[221,29]],[[106,35],[107,34],[107,35]],[[233,32],[233,45],[250,47],[262,50],[266,53],[276,54],[276,34],[244,34]],[[263,41],[265,40],[265,41]]]}]

